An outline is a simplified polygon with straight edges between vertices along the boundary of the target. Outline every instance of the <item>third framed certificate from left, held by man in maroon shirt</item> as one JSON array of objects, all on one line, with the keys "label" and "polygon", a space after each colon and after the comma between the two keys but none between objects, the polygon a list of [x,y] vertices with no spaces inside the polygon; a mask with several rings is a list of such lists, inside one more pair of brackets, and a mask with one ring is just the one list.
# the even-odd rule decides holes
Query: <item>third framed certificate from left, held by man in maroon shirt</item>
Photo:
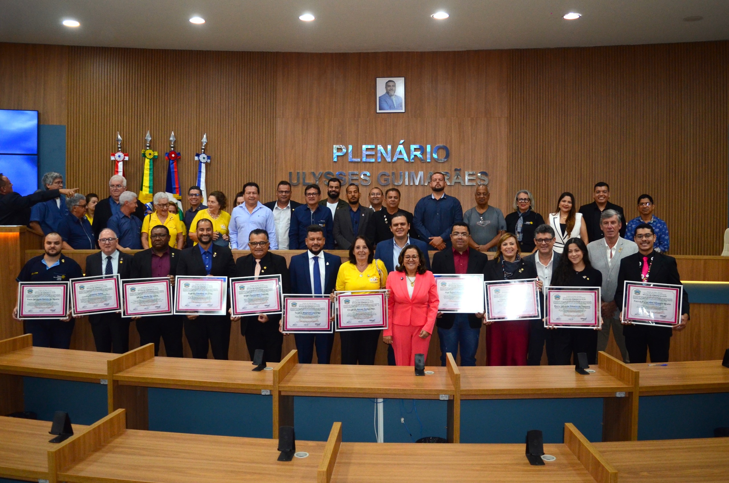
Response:
[{"label": "third framed certificate from left, held by man in maroon shirt", "polygon": [[172,314],[170,279],[122,280],[122,317]]}]

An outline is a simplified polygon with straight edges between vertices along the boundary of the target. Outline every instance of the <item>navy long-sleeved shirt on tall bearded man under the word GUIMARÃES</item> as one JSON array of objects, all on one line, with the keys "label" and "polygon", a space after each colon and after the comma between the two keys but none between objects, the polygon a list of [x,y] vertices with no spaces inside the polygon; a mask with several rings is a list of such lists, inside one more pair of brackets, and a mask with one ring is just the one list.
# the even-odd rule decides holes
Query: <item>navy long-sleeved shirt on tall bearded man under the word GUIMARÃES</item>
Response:
[{"label": "navy long-sleeved shirt on tall bearded man under the word GUIMAR\u00c3ES", "polygon": [[431,236],[440,236],[447,247],[451,246],[451,227],[453,223],[463,221],[461,202],[454,196],[443,196],[439,200],[435,196],[420,198],[413,212],[413,225],[420,239],[428,244],[428,250],[435,250],[430,243]]}]

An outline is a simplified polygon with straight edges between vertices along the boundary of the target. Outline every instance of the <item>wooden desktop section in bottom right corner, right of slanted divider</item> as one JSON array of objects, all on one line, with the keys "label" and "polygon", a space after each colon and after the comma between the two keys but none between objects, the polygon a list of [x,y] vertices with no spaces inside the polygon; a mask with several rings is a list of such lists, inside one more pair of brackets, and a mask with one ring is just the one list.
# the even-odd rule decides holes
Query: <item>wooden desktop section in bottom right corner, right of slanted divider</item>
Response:
[{"label": "wooden desktop section in bottom right corner, right of slanted divider", "polygon": [[729,438],[595,443],[620,483],[725,483]]}]

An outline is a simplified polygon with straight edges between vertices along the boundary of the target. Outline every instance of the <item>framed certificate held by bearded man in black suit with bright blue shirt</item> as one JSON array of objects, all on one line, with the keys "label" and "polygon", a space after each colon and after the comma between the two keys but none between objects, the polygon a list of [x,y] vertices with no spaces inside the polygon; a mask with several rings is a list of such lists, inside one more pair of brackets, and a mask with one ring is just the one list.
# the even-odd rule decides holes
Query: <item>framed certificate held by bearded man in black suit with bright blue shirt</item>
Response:
[{"label": "framed certificate held by bearded man in black suit with bright blue shirt", "polygon": [[225,315],[227,277],[175,277],[175,315]]}]

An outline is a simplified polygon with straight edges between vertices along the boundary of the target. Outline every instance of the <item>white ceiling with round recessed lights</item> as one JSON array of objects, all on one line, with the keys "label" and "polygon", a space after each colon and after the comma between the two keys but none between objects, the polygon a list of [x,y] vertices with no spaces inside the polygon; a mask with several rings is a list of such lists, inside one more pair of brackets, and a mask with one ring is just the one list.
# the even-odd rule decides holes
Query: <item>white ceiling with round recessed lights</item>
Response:
[{"label": "white ceiling with round recessed lights", "polygon": [[[451,17],[432,19],[440,9]],[[305,12],[316,20],[299,20]],[[190,23],[195,15],[206,23]],[[703,20],[683,20],[695,15]],[[62,26],[67,18],[81,26]],[[729,0],[0,0],[0,42],[373,52],[720,39]]]}]

